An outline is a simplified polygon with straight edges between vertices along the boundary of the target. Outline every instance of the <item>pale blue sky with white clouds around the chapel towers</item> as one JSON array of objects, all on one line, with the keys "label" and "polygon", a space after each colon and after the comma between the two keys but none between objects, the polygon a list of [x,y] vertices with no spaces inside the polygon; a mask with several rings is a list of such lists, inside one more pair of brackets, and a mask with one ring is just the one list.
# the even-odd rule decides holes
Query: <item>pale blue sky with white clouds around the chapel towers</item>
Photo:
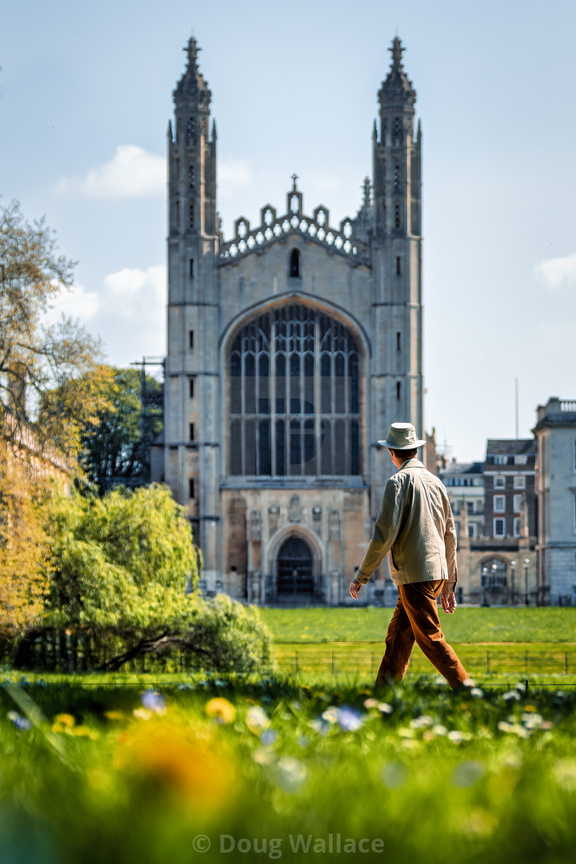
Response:
[{"label": "pale blue sky with white clouds around the chapel towers", "polygon": [[[459,459],[576,397],[576,5],[4,3],[0,193],[78,259],[61,308],[128,364],[164,350],[163,159],[193,32],[218,124],[218,208],[353,215],[396,31],[424,133],[426,425]],[[385,430],[383,430],[385,431]]]}]

